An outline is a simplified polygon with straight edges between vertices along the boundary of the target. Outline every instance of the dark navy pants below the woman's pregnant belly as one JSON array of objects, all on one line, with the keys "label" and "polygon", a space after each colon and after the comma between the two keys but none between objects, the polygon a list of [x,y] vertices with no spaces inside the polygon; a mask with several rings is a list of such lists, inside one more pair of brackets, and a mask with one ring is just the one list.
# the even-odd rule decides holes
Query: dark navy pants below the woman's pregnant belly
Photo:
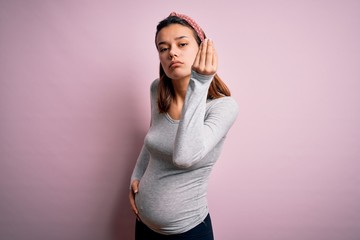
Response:
[{"label": "dark navy pants below the woman's pregnant belly", "polygon": [[214,235],[210,215],[208,214],[204,221],[193,229],[174,235],[163,235],[154,232],[144,223],[136,220],[135,240],[214,240]]}]

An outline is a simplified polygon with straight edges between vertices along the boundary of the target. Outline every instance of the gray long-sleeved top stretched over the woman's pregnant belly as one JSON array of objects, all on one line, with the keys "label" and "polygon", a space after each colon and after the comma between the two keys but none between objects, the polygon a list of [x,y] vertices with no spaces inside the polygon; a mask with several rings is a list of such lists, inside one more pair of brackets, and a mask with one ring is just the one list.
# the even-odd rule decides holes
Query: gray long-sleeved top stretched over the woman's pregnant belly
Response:
[{"label": "gray long-sleeved top stretched over the woman's pregnant belly", "polygon": [[207,99],[213,76],[192,72],[180,120],[160,114],[151,85],[151,126],[131,182],[141,220],[162,234],[186,232],[208,214],[207,185],[225,136],[238,114],[232,97]]}]

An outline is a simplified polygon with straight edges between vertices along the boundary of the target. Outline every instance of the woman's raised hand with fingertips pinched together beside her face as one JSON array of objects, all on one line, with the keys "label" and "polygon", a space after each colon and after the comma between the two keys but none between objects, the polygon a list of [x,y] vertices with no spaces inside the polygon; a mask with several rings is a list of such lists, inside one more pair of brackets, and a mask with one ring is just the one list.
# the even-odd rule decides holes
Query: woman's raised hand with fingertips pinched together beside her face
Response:
[{"label": "woman's raised hand with fingertips pinched together beside her face", "polygon": [[213,75],[217,71],[217,54],[214,43],[205,39],[199,47],[192,69],[203,75]]}]

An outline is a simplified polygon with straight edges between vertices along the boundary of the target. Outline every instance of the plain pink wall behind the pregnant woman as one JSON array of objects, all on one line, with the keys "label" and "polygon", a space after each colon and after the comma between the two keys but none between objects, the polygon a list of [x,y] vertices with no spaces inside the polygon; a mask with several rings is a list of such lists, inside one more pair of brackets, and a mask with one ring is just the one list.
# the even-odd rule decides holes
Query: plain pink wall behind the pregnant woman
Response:
[{"label": "plain pink wall behind the pregnant woman", "polygon": [[[360,239],[360,1],[0,1],[0,239],[133,239],[132,168],[171,11],[240,105],[219,240]],[[161,209],[159,209],[161,211]]]}]

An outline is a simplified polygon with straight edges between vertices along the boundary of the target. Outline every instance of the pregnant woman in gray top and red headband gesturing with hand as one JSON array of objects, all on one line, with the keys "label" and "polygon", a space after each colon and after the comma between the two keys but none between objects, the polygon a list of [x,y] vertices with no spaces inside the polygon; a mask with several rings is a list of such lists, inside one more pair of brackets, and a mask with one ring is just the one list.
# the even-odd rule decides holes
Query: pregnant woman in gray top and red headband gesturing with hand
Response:
[{"label": "pregnant woman in gray top and red headband gesturing with hand", "polygon": [[216,74],[213,41],[190,17],[157,26],[160,78],[151,85],[151,126],[131,176],[136,240],[214,239],[207,184],[238,105]]}]

